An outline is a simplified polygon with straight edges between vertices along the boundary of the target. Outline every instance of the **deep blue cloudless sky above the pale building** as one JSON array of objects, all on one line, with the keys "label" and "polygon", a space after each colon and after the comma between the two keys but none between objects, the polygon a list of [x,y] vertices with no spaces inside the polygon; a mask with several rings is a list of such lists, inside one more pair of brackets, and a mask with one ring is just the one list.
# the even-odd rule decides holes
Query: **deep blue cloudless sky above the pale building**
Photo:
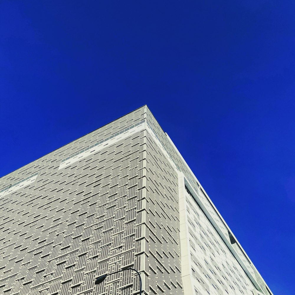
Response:
[{"label": "deep blue cloudless sky above the pale building", "polygon": [[295,2],[0,2],[0,176],[147,104],[276,295],[295,294]]}]

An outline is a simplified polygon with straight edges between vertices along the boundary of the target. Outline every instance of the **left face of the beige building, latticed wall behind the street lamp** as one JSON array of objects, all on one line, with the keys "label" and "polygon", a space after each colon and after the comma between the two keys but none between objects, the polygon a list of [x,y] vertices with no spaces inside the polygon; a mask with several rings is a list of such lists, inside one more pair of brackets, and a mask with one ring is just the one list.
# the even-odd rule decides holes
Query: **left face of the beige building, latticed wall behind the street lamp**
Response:
[{"label": "left face of the beige building, latticed wall behind the street lamp", "polygon": [[94,285],[127,267],[150,290],[145,117],[137,109],[0,179],[1,294],[136,294],[132,271]]}]

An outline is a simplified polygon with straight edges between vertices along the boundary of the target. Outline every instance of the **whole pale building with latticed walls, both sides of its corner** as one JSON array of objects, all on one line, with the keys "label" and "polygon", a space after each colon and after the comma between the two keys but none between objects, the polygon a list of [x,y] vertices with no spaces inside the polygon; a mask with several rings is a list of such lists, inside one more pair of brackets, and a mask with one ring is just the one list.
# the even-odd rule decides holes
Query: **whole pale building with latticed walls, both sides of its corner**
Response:
[{"label": "whole pale building with latticed walls, both sides of its corner", "polygon": [[0,179],[0,257],[7,295],[272,294],[147,106]]}]

